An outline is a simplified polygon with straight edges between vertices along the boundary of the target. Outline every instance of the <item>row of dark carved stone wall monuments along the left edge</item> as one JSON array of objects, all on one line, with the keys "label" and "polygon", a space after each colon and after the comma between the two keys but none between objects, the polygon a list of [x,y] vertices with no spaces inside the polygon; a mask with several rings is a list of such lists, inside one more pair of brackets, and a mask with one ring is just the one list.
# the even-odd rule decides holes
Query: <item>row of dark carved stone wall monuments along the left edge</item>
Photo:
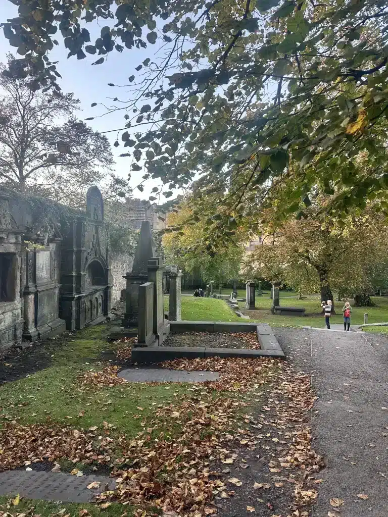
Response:
[{"label": "row of dark carved stone wall monuments along the left edge", "polygon": [[86,211],[0,189],[0,348],[105,319],[112,276],[101,193]]}]

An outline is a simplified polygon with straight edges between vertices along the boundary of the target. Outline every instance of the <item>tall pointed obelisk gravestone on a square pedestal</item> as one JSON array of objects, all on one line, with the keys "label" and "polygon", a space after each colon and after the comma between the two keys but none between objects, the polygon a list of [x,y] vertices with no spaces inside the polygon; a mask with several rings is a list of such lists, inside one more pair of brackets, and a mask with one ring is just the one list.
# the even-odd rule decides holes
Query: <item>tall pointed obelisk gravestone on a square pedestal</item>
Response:
[{"label": "tall pointed obelisk gravestone on a square pedestal", "polygon": [[[139,315],[139,286],[148,280],[148,260],[155,255],[151,225],[148,221],[141,223],[139,241],[136,248],[132,271],[123,278],[127,280],[124,326],[137,327]],[[163,296],[163,291],[161,290]]]}]

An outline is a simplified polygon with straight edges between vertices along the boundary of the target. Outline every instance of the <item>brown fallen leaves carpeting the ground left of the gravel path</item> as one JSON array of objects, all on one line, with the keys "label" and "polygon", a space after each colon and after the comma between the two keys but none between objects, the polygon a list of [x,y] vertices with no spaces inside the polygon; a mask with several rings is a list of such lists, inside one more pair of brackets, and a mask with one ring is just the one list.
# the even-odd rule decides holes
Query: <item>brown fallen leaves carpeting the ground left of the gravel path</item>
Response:
[{"label": "brown fallen leaves carpeting the ground left of the gravel path", "polygon": [[[127,343],[125,348],[129,348]],[[242,447],[261,450],[260,442],[266,440],[271,450],[268,465],[272,482],[255,482],[256,493],[284,490],[286,482],[293,487],[293,500],[288,501],[290,517],[307,516],[318,495],[314,476],[323,466],[311,449],[306,425],[307,412],[315,400],[308,376],[274,359],[176,359],[160,366],[216,371],[220,378],[191,385],[184,396],[156,407],[144,418],[143,431],[135,439],[106,436],[96,444],[97,426],[90,428],[93,431],[78,431],[50,421],[28,426],[6,422],[0,430],[0,469],[17,468],[27,460],[35,463],[64,458],[74,463],[108,464],[118,484],[115,490],[97,495],[99,505],[139,505],[143,517],[151,506],[165,513],[202,517],[216,513],[217,501],[233,497],[234,487],[238,490],[243,485],[229,469],[223,474],[217,465],[232,466]],[[117,367],[106,367],[101,372],[83,373],[79,381],[96,388],[116,386],[124,380],[117,373]],[[246,414],[246,408],[255,406],[258,389],[265,398],[265,410],[255,409],[253,417]],[[272,440],[268,429],[276,432],[277,440]],[[112,461],[115,445],[120,445],[123,455]],[[231,484],[233,490],[229,489]],[[245,485],[240,490],[245,490]],[[273,501],[266,506],[272,510]],[[252,505],[246,508],[255,511]]]}]

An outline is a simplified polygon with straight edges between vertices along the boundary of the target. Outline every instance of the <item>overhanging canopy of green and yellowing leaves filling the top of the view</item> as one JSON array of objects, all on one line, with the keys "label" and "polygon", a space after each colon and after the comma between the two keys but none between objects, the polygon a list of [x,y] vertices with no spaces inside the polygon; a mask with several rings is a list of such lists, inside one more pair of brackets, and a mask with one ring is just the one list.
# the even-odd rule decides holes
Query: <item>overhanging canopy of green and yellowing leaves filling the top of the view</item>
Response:
[{"label": "overhanging canopy of green and yellowing leaves filling the top of the view", "polygon": [[[136,57],[136,48],[164,45],[162,58],[150,50],[128,78],[117,145],[131,148],[123,154],[132,170],[168,186],[166,197],[196,174],[207,191],[221,190],[213,204],[197,196],[193,208],[193,217],[216,215],[204,227],[213,237],[235,232],[245,204],[259,210],[273,189],[279,217],[303,217],[316,191],[344,217],[377,194],[385,200],[383,0],[17,3],[4,34],[34,67],[33,88],[58,77],[47,55],[56,33],[69,56],[95,54],[94,65],[109,52]],[[86,26],[96,19],[109,25],[91,42]],[[366,169],[355,165],[360,153]]]}]

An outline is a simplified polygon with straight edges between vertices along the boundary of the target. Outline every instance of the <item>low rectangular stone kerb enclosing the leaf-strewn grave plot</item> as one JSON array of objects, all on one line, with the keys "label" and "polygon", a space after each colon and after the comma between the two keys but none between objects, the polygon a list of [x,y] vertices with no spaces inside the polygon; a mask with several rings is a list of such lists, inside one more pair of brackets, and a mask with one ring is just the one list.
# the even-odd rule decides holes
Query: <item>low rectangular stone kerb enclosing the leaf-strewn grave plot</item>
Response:
[{"label": "low rectangular stone kerb enclosing the leaf-strewn grave plot", "polygon": [[272,357],[285,359],[274,333],[269,325],[257,323],[218,323],[218,322],[171,322],[171,332],[254,332],[261,346],[260,350],[248,348],[184,347],[184,346],[148,346],[132,349],[132,363],[158,363],[172,359],[205,357]]}]

